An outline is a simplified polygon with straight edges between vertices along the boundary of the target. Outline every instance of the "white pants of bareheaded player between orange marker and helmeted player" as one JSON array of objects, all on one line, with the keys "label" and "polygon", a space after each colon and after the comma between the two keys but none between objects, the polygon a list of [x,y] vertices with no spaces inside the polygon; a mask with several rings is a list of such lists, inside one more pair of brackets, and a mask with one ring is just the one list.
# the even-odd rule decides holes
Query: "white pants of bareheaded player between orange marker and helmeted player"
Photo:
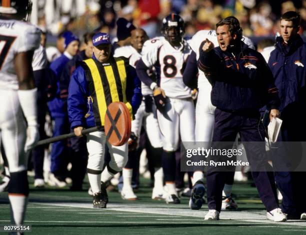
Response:
[{"label": "white pants of bareheaded player between orange marker and helmeted player", "polygon": [[141,102],[139,108],[137,109],[135,119],[132,120],[131,131],[138,137],[138,141],[142,125],[151,145],[155,148],[162,147],[161,133],[157,122],[155,104],[152,105],[152,112],[145,111],[144,101]]}]

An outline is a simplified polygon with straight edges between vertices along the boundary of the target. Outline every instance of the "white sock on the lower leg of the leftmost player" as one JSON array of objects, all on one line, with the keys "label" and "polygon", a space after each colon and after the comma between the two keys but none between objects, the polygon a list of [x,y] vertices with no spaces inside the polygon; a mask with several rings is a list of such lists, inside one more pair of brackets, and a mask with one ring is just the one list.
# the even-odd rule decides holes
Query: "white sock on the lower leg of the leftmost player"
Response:
[{"label": "white sock on the lower leg of the leftmost player", "polygon": [[8,198],[10,201],[10,223],[23,224],[27,196],[8,194]]}]

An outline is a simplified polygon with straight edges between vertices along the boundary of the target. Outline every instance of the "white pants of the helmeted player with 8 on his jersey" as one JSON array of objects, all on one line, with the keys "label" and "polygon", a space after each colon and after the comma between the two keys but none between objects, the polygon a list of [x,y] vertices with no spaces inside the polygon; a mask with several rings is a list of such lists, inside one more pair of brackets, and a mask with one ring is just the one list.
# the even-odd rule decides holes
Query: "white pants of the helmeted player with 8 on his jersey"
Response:
[{"label": "white pants of the helmeted player with 8 on his jersey", "polygon": [[194,142],[194,104],[191,98],[169,98],[165,109],[169,119],[157,110],[157,119],[162,134],[163,149],[175,151],[181,141]]}]

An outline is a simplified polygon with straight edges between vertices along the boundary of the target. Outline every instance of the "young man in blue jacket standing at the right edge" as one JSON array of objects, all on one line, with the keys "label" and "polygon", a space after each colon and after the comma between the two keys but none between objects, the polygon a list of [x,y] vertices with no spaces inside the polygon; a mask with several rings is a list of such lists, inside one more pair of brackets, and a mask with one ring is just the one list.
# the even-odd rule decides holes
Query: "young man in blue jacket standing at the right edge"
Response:
[{"label": "young man in blue jacket standing at the right edge", "polygon": [[[279,141],[306,140],[306,43],[297,33],[299,23],[300,15],[295,11],[287,11],[280,17],[281,36],[276,38],[276,48],[268,60],[280,97],[282,125]],[[282,148],[279,150],[278,164],[286,162],[288,156],[291,159],[294,157]],[[282,156],[285,158],[279,158]],[[305,172],[275,172],[275,180],[283,196],[281,208],[288,218],[306,219],[305,189],[300,185],[300,180],[304,178]]]}]

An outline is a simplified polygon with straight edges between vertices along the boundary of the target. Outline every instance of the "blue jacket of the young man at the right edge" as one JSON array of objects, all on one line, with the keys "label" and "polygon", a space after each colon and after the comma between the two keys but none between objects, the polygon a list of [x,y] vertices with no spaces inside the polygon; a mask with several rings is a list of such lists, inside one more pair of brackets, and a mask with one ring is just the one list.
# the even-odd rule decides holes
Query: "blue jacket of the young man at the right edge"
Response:
[{"label": "blue jacket of the young man at the right edge", "polygon": [[276,48],[271,52],[268,65],[275,78],[282,111],[289,104],[305,108],[306,43],[297,35],[288,45],[276,38]]}]

